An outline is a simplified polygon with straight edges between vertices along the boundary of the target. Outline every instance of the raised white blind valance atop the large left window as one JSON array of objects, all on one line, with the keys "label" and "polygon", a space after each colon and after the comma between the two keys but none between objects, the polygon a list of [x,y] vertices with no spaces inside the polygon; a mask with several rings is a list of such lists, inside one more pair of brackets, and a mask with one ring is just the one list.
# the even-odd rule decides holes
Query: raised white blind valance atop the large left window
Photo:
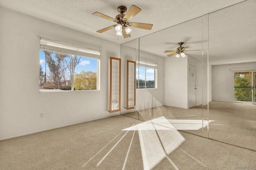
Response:
[{"label": "raised white blind valance atop the large left window", "polygon": [[90,49],[88,47],[82,47],[78,45],[71,45],[49,39],[40,39],[40,49],[46,51],[53,51],[58,53],[65,53],[71,55],[78,55],[83,57],[90,57],[94,59],[100,59],[101,50]]}]

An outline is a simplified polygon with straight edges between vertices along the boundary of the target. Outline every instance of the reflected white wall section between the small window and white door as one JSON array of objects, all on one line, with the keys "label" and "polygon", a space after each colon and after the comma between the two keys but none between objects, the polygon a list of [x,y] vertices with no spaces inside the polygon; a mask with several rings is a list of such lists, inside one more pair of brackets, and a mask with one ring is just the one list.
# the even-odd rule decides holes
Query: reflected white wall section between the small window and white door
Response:
[{"label": "reflected white wall section between the small window and white door", "polygon": [[164,105],[188,108],[188,57],[164,58]]}]

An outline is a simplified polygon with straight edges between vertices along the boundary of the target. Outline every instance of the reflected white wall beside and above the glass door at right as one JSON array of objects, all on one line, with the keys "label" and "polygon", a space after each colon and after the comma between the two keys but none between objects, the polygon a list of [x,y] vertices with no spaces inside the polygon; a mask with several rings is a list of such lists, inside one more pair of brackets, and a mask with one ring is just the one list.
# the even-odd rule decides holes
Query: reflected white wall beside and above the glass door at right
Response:
[{"label": "reflected white wall beside and above the glass door at right", "polygon": [[234,71],[230,68],[256,67],[256,62],[212,66],[212,100],[234,102]]}]

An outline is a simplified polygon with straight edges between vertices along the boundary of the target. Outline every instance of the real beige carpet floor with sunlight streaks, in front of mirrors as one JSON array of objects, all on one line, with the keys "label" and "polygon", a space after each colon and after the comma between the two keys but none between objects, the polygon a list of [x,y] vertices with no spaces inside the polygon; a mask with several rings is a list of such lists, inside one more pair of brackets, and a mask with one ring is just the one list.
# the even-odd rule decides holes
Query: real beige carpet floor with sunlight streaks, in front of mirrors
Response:
[{"label": "real beige carpet floor with sunlight streaks, in front of mirrors", "polygon": [[0,141],[0,170],[256,169],[252,150],[160,127],[119,115]]}]

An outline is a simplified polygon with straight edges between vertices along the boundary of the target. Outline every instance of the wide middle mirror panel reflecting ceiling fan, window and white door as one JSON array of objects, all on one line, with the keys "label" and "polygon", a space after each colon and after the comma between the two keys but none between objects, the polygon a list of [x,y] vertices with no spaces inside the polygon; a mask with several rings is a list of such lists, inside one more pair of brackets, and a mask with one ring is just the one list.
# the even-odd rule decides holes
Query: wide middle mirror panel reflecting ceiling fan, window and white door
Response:
[{"label": "wide middle mirror panel reflecting ceiling fan, window and white door", "polygon": [[[185,47],[187,55],[170,55],[178,51],[177,48]],[[200,136],[204,128],[207,131],[208,119],[203,121],[204,124],[202,122],[202,57],[202,17],[140,38],[140,61],[137,65],[139,100],[136,104],[140,120],[161,119],[179,130]],[[156,63],[157,69],[147,68],[144,62]],[[189,65],[194,66],[194,93],[189,90],[192,84],[189,82],[192,79],[189,78],[192,74]],[[153,78],[149,73],[154,73],[154,79],[149,78]],[[157,88],[149,83],[147,86],[147,78],[154,80],[153,84],[157,82]]]}]

